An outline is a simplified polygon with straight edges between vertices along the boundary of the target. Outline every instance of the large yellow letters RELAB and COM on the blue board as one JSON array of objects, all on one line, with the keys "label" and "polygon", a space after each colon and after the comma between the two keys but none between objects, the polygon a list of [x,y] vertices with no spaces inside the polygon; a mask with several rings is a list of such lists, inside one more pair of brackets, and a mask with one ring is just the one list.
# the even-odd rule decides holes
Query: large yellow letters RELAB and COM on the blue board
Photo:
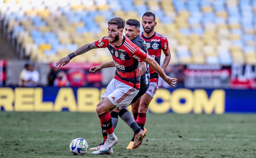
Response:
[{"label": "large yellow letters RELAB and COM on the blue board", "polygon": [[[60,88],[55,101],[43,101],[43,88],[0,88],[0,106],[5,111],[49,111],[59,112],[68,108],[70,112],[95,112],[96,105],[105,91],[97,88],[78,88],[77,99],[72,88]],[[159,102],[160,100],[160,102]],[[182,100],[182,101],[181,101]],[[181,103],[182,102],[182,103]],[[128,106],[128,110],[131,107]],[[223,114],[225,111],[225,91],[213,90],[208,97],[204,89],[158,89],[149,110],[153,113]]]}]

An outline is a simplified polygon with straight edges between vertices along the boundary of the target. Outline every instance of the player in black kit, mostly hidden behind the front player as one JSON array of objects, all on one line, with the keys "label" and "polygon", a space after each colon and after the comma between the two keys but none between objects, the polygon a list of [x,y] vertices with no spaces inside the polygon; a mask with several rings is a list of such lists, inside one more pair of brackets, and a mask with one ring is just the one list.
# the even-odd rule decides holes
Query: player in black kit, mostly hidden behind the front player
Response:
[{"label": "player in black kit, mostly hidden behind the front player", "polygon": [[[126,21],[125,25],[125,36],[131,40],[134,44],[139,46],[144,52],[148,52],[146,48],[146,42],[139,36],[140,33],[140,22],[136,19],[129,19]],[[139,62],[140,67],[140,91],[139,93],[133,98],[131,105],[135,104],[135,102],[140,100],[139,98],[146,93],[149,87],[149,65],[145,62]],[[106,68],[106,67],[115,67],[114,61],[110,61],[108,63],[104,63],[98,66],[94,66],[90,68],[90,71],[95,74],[95,72]],[[137,104],[135,104],[137,105]],[[137,105],[139,106],[139,105]],[[112,119],[112,125],[113,129],[115,130],[116,125],[118,123],[118,116],[123,119],[123,121],[130,126],[133,129],[133,132],[136,133],[137,128],[139,127],[137,122],[134,120],[133,116],[129,111],[127,111],[125,108],[118,110],[115,108],[111,113],[111,119]],[[105,130],[102,130],[103,138],[107,136],[107,133]],[[103,146],[103,143],[100,143],[98,146],[92,147],[89,150],[99,150],[101,146]],[[134,138],[132,140],[132,146],[134,145]]]}]

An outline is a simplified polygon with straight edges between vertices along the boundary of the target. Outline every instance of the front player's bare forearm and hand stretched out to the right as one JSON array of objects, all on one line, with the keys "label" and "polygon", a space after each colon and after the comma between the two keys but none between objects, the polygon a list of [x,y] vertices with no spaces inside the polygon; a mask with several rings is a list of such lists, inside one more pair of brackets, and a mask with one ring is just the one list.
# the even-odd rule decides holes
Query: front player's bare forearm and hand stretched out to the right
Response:
[{"label": "front player's bare forearm and hand stretched out to the right", "polygon": [[175,87],[174,84],[176,84],[177,79],[167,76],[164,70],[158,65],[158,63],[153,58],[147,56],[144,61],[148,63],[159,74],[159,76],[162,77],[162,79],[166,83],[168,83],[172,87]]}]

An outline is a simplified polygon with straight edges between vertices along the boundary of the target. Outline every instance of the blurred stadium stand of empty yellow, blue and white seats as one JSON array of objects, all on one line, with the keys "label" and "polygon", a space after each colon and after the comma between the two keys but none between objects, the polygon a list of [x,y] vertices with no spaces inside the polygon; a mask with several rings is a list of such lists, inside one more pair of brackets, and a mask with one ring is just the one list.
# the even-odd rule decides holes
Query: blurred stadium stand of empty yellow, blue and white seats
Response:
[{"label": "blurred stadium stand of empty yellow, blue and white seats", "polygon": [[[107,35],[108,19],[156,15],[171,64],[256,64],[256,0],[0,0],[4,35],[20,57],[56,61]],[[141,28],[142,30],[142,28]],[[105,50],[72,62],[106,62]]]}]

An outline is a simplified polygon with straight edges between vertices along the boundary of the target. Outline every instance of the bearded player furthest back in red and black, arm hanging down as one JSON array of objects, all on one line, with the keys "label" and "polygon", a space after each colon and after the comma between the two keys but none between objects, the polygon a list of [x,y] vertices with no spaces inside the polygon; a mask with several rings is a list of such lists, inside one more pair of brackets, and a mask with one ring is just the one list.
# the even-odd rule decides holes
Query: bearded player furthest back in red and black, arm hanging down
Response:
[{"label": "bearded player furthest back in red and black, arm hanging down", "polygon": [[[155,59],[155,61],[160,65],[161,50],[165,54],[164,62],[162,64],[162,69],[165,70],[166,66],[169,64],[171,59],[171,54],[168,46],[168,40],[165,36],[156,33],[154,27],[156,26],[155,14],[152,12],[145,12],[142,16],[142,27],[143,32],[140,33],[140,37],[145,40],[148,55]],[[141,129],[144,129],[144,124],[146,122],[146,112],[148,110],[148,105],[152,98],[154,97],[157,84],[158,84],[158,73],[149,67],[149,88],[145,94],[140,98],[140,101],[137,103],[139,106],[132,106],[133,116]],[[136,107],[139,107],[138,109]],[[133,140],[133,139],[132,139]],[[132,149],[132,141],[127,146],[126,149]]]}]

